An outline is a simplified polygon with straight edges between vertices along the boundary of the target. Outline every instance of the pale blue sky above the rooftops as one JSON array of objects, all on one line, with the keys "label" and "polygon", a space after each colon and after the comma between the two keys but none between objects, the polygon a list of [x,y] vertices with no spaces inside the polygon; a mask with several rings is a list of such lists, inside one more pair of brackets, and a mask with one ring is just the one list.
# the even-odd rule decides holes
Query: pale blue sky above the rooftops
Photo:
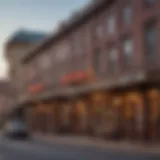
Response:
[{"label": "pale blue sky above the rooftops", "polygon": [[7,77],[4,43],[15,31],[26,28],[54,31],[89,0],[0,0],[0,78]]}]

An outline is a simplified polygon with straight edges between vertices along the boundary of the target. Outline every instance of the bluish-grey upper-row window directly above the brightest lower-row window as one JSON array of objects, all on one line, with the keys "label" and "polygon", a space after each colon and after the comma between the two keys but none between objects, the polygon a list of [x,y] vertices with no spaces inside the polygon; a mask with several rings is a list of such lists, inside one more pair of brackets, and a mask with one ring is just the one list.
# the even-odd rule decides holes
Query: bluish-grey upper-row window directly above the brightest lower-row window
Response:
[{"label": "bluish-grey upper-row window directly above the brightest lower-row window", "polygon": [[132,21],[132,7],[130,3],[123,8],[123,21],[124,24],[130,24]]}]

